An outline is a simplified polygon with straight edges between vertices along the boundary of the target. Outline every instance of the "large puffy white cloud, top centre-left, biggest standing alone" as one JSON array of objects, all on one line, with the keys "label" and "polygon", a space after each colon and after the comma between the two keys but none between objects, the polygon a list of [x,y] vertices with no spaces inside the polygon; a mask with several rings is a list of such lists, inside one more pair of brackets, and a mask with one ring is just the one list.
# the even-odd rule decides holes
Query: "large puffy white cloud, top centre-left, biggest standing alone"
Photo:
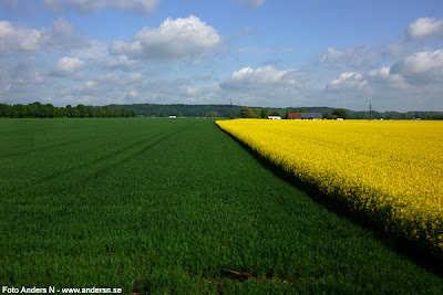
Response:
[{"label": "large puffy white cloud, top centre-left, biggest standing alone", "polygon": [[199,18],[166,19],[158,29],[143,28],[131,40],[115,41],[111,54],[155,61],[195,60],[220,43],[213,27]]}]

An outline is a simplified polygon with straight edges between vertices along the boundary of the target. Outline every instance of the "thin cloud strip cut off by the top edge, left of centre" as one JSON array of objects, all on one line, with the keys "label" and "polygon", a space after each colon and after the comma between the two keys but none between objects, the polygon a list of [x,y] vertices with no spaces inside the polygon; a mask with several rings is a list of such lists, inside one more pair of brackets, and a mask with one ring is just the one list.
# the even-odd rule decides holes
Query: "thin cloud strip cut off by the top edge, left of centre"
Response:
[{"label": "thin cloud strip cut off by the top edge, left of centre", "polygon": [[75,10],[91,13],[99,9],[111,7],[140,13],[151,13],[161,0],[43,0],[49,9],[55,12]]}]

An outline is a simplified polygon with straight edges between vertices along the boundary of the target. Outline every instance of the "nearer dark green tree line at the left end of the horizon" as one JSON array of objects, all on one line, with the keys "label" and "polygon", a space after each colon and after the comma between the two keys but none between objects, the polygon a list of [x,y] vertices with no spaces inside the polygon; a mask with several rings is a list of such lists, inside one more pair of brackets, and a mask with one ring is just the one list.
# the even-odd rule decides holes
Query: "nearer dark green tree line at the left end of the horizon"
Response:
[{"label": "nearer dark green tree line at the left end of the horizon", "polygon": [[93,117],[135,117],[134,110],[124,107],[111,108],[110,106],[78,105],[56,107],[52,104],[39,102],[22,105],[0,104],[0,117],[10,118],[93,118]]}]

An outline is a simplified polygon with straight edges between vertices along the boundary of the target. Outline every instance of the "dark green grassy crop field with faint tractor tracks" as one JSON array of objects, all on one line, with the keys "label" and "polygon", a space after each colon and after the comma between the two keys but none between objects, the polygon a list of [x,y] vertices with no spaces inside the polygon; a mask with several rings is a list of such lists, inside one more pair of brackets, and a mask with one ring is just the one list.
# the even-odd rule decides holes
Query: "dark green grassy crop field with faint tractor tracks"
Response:
[{"label": "dark green grassy crop field with faint tractor tracks", "polygon": [[[439,294],[206,119],[0,120],[0,283],[124,293]],[[223,268],[247,271],[240,282]]]}]

